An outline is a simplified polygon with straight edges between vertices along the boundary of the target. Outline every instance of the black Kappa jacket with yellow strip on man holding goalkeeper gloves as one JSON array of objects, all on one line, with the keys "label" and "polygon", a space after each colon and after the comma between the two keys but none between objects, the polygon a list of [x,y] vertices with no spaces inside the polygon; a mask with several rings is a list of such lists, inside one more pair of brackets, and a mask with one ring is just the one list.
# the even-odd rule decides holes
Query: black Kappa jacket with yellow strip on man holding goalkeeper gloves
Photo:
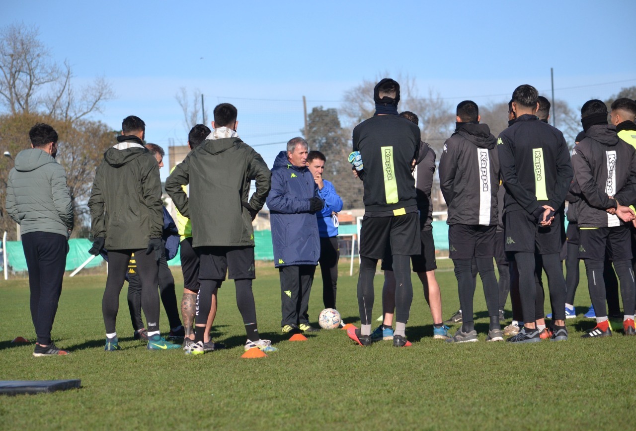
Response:
[{"label": "black Kappa jacket with yellow strip on man holding goalkeeper gloves", "polygon": [[391,211],[417,204],[411,163],[419,146],[420,129],[398,115],[375,115],[354,128],[353,150],[364,163],[366,212],[391,216]]}]

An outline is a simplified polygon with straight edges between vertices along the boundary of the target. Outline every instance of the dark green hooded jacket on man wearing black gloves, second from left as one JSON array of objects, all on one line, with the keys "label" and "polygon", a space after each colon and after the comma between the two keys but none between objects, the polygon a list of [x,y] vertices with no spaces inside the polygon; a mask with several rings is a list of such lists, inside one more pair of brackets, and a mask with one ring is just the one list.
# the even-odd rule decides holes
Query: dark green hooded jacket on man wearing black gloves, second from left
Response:
[{"label": "dark green hooded jacket on man wearing black gloves, second from left", "polygon": [[88,199],[93,237],[107,250],[140,250],[163,227],[159,166],[146,148],[109,148]]}]

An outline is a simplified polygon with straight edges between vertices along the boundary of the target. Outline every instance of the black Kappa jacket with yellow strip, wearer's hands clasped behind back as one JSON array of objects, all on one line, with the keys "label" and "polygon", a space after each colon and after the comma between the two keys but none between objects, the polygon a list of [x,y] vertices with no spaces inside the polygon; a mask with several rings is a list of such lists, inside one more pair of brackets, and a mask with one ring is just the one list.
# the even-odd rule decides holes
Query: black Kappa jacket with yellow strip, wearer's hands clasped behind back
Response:
[{"label": "black Kappa jacket with yellow strip, wearer's hands clasped behind back", "polygon": [[524,209],[538,218],[539,206],[563,206],[572,164],[562,132],[535,115],[520,115],[499,134],[497,153],[506,211]]}]

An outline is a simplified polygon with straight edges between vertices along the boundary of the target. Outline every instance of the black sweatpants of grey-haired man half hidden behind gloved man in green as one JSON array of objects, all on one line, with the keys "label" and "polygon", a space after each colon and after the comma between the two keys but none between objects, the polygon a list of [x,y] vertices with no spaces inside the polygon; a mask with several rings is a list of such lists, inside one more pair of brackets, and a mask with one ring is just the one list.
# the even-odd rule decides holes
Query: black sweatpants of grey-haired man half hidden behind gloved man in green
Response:
[{"label": "black sweatpants of grey-haired man half hidden behind gloved man in green", "polygon": [[[174,292],[174,277],[168,266],[165,254],[159,260],[159,294],[163,309],[165,309],[165,314],[167,314],[170,322],[170,328],[181,326],[177,295]],[[141,279],[139,279],[138,272],[128,273],[128,310],[130,311],[132,328],[134,330],[142,329],[144,323],[141,319]]]}]

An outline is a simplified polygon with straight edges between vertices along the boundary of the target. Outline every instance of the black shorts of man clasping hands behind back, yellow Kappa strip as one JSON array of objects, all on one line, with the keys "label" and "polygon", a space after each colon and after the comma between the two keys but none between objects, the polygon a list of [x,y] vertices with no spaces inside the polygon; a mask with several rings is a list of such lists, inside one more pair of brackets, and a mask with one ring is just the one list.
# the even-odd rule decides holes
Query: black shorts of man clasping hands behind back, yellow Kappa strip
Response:
[{"label": "black shorts of man clasping hands behind back, yellow Kappa strip", "polygon": [[565,241],[562,214],[556,213],[548,227],[541,227],[536,219],[524,211],[506,211],[504,215],[506,252],[522,251],[550,255],[560,253]]}]

